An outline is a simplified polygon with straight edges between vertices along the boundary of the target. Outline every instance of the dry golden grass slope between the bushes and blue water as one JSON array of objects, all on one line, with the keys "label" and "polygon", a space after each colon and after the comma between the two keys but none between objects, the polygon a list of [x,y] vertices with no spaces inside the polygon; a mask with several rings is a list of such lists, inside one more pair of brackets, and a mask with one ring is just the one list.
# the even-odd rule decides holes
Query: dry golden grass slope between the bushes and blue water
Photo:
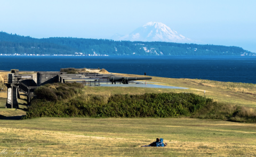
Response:
[{"label": "dry golden grass slope between the bushes and blue water", "polygon": [[[115,73],[117,75],[127,76],[127,77],[143,77],[141,75],[129,75],[122,73]],[[176,78],[163,78],[163,77],[154,77],[150,80],[152,82],[159,82],[158,85],[166,86],[177,86],[177,87],[186,87],[189,89],[138,89],[134,90],[129,88],[118,89],[119,92],[130,93],[130,94],[143,94],[148,93],[148,90],[151,90],[153,93],[167,93],[167,92],[189,92],[197,95],[204,96],[204,90],[206,90],[205,96],[212,98],[214,101],[229,103],[233,105],[241,105],[247,107],[256,108],[256,84],[245,84],[239,82],[221,82],[213,80],[202,80],[202,79],[176,79]],[[114,89],[111,88],[91,88],[91,93],[112,93]],[[149,93],[152,93],[149,91]],[[115,92],[114,92],[115,93]]]}]

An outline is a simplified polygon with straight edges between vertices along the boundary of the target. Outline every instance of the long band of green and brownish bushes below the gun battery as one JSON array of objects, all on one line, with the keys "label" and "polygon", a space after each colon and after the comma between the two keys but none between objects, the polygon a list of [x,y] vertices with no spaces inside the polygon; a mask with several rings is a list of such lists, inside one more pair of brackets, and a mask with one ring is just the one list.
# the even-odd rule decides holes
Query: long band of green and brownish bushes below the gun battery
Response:
[{"label": "long band of green and brownish bushes below the gun battery", "polygon": [[255,109],[213,102],[193,93],[111,96],[85,95],[81,84],[48,84],[37,95],[26,118],[36,117],[178,117],[256,122]]}]

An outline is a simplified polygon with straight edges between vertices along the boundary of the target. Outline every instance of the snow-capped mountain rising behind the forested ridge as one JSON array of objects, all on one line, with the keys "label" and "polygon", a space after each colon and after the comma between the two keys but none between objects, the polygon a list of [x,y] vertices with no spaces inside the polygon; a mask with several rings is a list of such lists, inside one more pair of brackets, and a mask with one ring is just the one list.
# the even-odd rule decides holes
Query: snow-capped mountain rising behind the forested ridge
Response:
[{"label": "snow-capped mountain rising behind the forested ridge", "polygon": [[174,43],[191,43],[191,39],[186,38],[177,31],[172,30],[161,22],[148,22],[143,26],[135,29],[129,35],[115,34],[111,37],[113,40],[130,40],[142,42],[174,42]]}]

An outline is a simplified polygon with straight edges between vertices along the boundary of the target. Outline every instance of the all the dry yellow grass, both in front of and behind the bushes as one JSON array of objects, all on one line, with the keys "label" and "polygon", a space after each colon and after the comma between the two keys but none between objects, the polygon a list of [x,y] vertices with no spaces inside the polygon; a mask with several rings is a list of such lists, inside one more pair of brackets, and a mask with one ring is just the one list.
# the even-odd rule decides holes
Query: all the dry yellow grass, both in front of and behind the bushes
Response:
[{"label": "all the dry yellow grass, both in front of and behind the bushes", "polygon": [[[206,90],[206,97],[215,101],[256,107],[254,84],[161,77],[150,81],[189,89],[85,87],[83,94],[191,92],[203,96]],[[18,110],[4,108],[6,97],[6,92],[0,92],[0,115],[26,114],[24,95]],[[164,138],[167,147],[140,147],[157,137]],[[0,120],[2,151],[7,153],[0,156],[256,156],[256,123],[192,118]]]}]

